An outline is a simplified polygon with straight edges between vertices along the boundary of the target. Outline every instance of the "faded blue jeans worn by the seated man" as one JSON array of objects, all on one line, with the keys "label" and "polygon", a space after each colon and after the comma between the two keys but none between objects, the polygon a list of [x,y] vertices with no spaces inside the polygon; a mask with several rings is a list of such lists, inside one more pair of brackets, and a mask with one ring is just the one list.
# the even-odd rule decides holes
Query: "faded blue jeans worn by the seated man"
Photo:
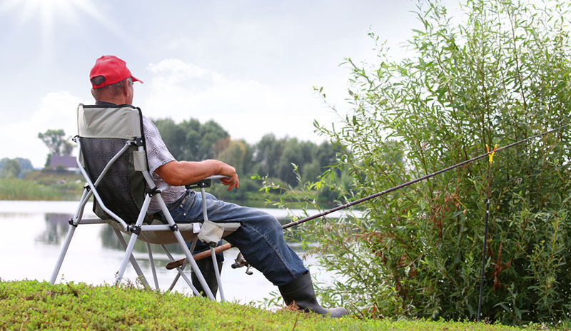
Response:
[{"label": "faded blue jeans worn by the seated man", "polygon": [[[202,195],[193,190],[176,205],[168,207],[176,223],[204,220]],[[208,220],[241,223],[224,240],[236,246],[253,268],[260,270],[273,285],[286,285],[308,272],[302,260],[283,240],[283,230],[275,217],[261,210],[226,203],[206,193]]]}]

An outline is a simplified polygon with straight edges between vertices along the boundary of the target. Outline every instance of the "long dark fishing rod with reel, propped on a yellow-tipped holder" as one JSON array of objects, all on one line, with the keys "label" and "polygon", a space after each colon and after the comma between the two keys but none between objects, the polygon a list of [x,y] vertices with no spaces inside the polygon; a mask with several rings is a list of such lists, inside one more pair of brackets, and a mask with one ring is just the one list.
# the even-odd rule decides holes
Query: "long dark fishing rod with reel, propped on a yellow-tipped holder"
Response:
[{"label": "long dark fishing rod with reel, propped on a yellow-tipped holder", "polygon": [[[520,143],[525,143],[526,141],[530,141],[530,140],[532,140],[532,139],[545,136],[545,135],[547,135],[547,134],[549,134],[549,133],[553,133],[553,132],[555,132],[555,131],[560,131],[560,130],[562,130],[563,128],[567,128],[568,126],[571,126],[571,123],[567,123],[567,124],[565,124],[564,126],[560,126],[560,127],[554,128],[554,129],[549,130],[549,131],[545,131],[545,132],[542,132],[542,133],[538,133],[538,134],[536,134],[535,136],[531,136],[531,137],[522,139],[522,140],[520,140],[520,141],[516,141],[515,143],[510,143],[509,145],[506,145],[506,146],[502,146],[502,147],[499,147],[499,148],[495,148],[495,151],[488,151],[487,153],[484,153],[484,154],[482,154],[482,155],[480,155],[480,156],[475,156],[474,158],[470,158],[470,160],[462,161],[462,162],[457,163],[457,164],[455,164],[455,165],[450,165],[448,168],[443,168],[443,169],[440,169],[440,170],[438,170],[438,171],[435,171],[434,173],[430,173],[430,174],[428,174],[428,175],[424,175],[423,177],[419,177],[419,178],[415,178],[415,179],[413,179],[413,180],[409,180],[409,181],[406,182],[406,183],[402,183],[402,184],[400,184],[400,185],[393,186],[392,188],[388,188],[387,190],[383,190],[383,191],[381,191],[381,192],[378,192],[378,193],[375,193],[375,194],[372,194],[372,195],[368,195],[368,196],[366,196],[365,198],[360,198],[360,199],[358,199],[358,200],[351,201],[350,203],[345,203],[344,205],[339,205],[338,207],[335,207],[335,208],[333,208],[333,209],[325,210],[325,211],[323,211],[322,213],[318,213],[318,214],[315,214],[315,215],[312,215],[312,216],[303,218],[303,219],[301,219],[301,220],[296,220],[296,221],[294,221],[294,222],[285,224],[285,225],[282,226],[282,229],[291,228],[292,226],[299,225],[299,224],[301,224],[301,223],[305,223],[305,222],[307,222],[307,221],[309,221],[309,220],[315,220],[315,218],[323,217],[323,216],[328,215],[328,214],[330,214],[330,213],[334,213],[335,211],[342,210],[342,209],[345,209],[345,208],[349,208],[349,207],[352,207],[353,205],[358,205],[359,203],[363,203],[363,202],[365,202],[365,201],[368,201],[368,200],[371,200],[371,199],[374,199],[374,198],[378,198],[378,197],[380,197],[381,195],[385,195],[385,194],[387,194],[387,193],[391,193],[391,192],[393,192],[393,191],[395,191],[395,190],[400,190],[401,188],[405,188],[405,187],[408,186],[408,185],[413,185],[414,183],[418,183],[418,182],[420,182],[420,181],[422,181],[422,180],[426,180],[426,179],[428,179],[428,178],[432,178],[432,177],[434,177],[435,175],[440,175],[440,173],[445,173],[445,172],[448,171],[448,170],[453,170],[453,169],[458,168],[458,167],[460,167],[460,166],[462,166],[462,165],[465,165],[465,164],[472,163],[472,162],[474,162],[474,161],[480,160],[480,158],[485,158],[486,156],[489,156],[489,155],[492,154],[492,153],[497,153],[497,152],[499,152],[499,151],[505,150],[506,148],[510,148],[510,147],[519,145]],[[226,243],[226,244],[224,244],[224,245],[220,245],[220,246],[216,247],[215,250],[216,250],[216,253],[221,253],[221,252],[223,252],[223,251],[225,251],[225,250],[228,250],[228,249],[230,249],[230,248],[232,248],[232,247],[233,247],[233,245],[231,245],[230,243]],[[201,253],[197,253],[196,255],[193,255],[193,256],[194,256],[194,260],[201,260],[201,259],[203,259],[203,258],[206,258],[207,256],[210,256],[210,252],[209,252],[209,251],[207,251],[206,253],[205,253],[205,252],[202,252],[202,254],[201,254]],[[183,265],[183,263],[184,263],[185,260],[186,260],[186,258],[182,258],[181,260],[177,260],[177,261],[173,261],[173,262],[171,262],[171,263],[168,263],[168,264],[166,265],[166,268],[167,268],[168,270],[171,270],[171,269],[174,269],[174,268],[178,268],[178,267],[180,267],[181,265]],[[236,263],[233,264],[233,268],[239,268],[239,267],[241,267],[241,266],[243,266],[243,265],[247,265],[247,263],[246,263],[245,260],[243,260],[243,258],[241,258],[241,254],[240,254],[240,255],[238,255],[238,258],[236,258]]]}]

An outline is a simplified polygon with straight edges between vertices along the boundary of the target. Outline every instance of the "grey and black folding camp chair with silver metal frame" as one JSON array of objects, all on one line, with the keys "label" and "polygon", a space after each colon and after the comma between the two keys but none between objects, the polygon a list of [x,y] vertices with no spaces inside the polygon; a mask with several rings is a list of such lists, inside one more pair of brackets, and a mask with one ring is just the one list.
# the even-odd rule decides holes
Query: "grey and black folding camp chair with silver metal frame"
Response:
[{"label": "grey and black folding camp chair with silver metal frame", "polygon": [[[143,285],[150,287],[132,255],[136,240],[143,240],[147,245],[154,285],[158,290],[158,279],[150,244],[161,245],[168,259],[174,261],[165,245],[178,243],[186,255],[186,261],[190,263],[193,272],[196,273],[204,292],[212,300],[216,300],[191,254],[194,245],[200,239],[211,246],[218,289],[221,300],[225,300],[213,246],[221,238],[239,228],[240,223],[211,222],[206,213],[206,203],[203,203],[204,223],[177,224],[174,222],[161,197],[161,192],[168,188],[168,185],[156,187],[148,171],[141,109],[126,105],[103,107],[80,104],[77,108],[77,119],[78,136],[74,138],[78,146],[77,164],[87,183],[84,185],[84,192],[79,200],[74,218],[69,220],[69,232],[61,248],[50,282],[54,284],[56,281],[77,226],[105,223],[111,225],[125,249],[125,255],[123,255],[116,275],[116,285],[121,283],[126,265],[131,262]],[[187,188],[200,188],[203,201],[206,201],[204,198],[205,188],[210,186],[211,179],[218,178],[222,178],[222,176],[206,178],[198,183],[187,185]],[[98,218],[83,218],[86,203],[92,196],[94,197],[94,213]],[[148,218],[147,210],[151,199],[158,200],[164,218],[166,218],[164,220],[166,224]],[[128,243],[121,233],[131,235]],[[190,249],[186,245],[186,241],[192,242]],[[183,277],[191,290],[196,295],[200,295],[188,276],[183,273],[185,265],[177,268],[178,274],[168,290],[174,287],[179,277]]]}]

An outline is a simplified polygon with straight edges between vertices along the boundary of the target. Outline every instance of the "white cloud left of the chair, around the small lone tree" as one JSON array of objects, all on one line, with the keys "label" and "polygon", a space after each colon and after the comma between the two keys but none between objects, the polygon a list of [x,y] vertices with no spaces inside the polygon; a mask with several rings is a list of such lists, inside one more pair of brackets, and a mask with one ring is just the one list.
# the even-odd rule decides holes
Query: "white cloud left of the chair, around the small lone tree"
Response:
[{"label": "white cloud left of the chair, around the small lone tree", "polygon": [[0,140],[7,142],[2,154],[8,158],[28,158],[34,167],[43,167],[49,151],[37,138],[38,133],[61,128],[67,136],[75,136],[75,110],[80,102],[79,97],[66,91],[47,93],[30,118],[21,118],[0,131]]}]

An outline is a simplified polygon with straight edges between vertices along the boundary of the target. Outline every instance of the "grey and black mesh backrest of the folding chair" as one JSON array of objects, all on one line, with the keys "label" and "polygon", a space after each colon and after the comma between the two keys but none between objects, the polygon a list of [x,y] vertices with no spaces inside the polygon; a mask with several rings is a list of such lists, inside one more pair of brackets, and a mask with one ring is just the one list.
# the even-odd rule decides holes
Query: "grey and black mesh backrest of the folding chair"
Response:
[{"label": "grey and black mesh backrest of the folding chair", "polygon": [[[96,183],[108,167],[96,185],[103,205],[125,223],[136,223],[146,190],[141,170],[148,170],[141,109],[129,105],[80,104],[77,122],[81,163],[91,182]],[[123,148],[123,153],[118,155]],[[113,161],[113,158],[116,159]],[[111,218],[96,199],[94,213],[102,219]]]}]

